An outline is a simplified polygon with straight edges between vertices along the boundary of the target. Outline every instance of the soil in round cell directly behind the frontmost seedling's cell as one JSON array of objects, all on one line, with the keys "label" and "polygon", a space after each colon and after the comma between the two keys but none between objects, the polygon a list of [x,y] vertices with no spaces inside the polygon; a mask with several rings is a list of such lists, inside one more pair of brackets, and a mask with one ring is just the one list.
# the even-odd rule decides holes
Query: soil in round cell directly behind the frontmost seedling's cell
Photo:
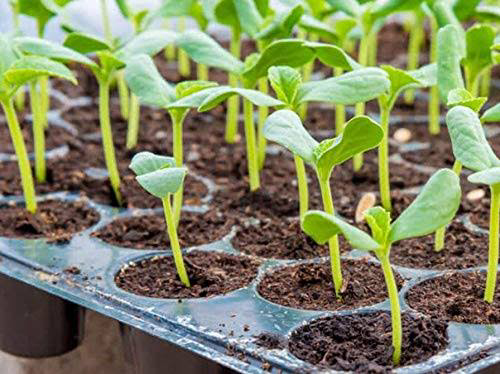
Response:
[{"label": "soil in round cell directly behind the frontmost seedling's cell", "polygon": [[[367,259],[342,261],[341,299],[335,297],[330,262],[284,266],[269,271],[257,286],[268,301],[297,309],[344,310],[387,299],[380,265]],[[398,288],[403,279],[395,273]]]}]

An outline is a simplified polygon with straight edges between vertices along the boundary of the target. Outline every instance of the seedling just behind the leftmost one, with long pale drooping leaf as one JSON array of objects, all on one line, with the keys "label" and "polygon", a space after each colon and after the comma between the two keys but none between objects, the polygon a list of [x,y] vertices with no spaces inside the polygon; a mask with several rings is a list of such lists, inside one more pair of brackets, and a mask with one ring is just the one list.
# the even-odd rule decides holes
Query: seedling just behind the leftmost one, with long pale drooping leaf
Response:
[{"label": "seedling just behind the leftmost one, with long pale drooping leaf", "polygon": [[[89,58],[48,40],[17,37],[14,38],[13,43],[19,51],[26,55],[46,57],[64,63],[78,62],[89,67],[96,66]],[[39,81],[40,79],[38,79]],[[35,80],[29,82],[35,148],[35,176],[37,182],[44,183],[46,181],[45,124],[42,99],[36,85],[37,81]]]}]

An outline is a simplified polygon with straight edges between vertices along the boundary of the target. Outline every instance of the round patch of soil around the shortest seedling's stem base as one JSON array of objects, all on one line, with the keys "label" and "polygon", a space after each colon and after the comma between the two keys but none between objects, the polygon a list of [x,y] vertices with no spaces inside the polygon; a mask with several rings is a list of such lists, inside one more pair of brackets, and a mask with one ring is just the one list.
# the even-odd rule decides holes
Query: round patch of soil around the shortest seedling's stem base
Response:
[{"label": "round patch of soil around the shortest seedling's stem base", "polygon": [[164,299],[223,295],[248,285],[259,262],[221,252],[193,251],[184,256],[191,287],[177,276],[171,256],[153,257],[127,265],[115,276],[116,285],[140,296]]}]

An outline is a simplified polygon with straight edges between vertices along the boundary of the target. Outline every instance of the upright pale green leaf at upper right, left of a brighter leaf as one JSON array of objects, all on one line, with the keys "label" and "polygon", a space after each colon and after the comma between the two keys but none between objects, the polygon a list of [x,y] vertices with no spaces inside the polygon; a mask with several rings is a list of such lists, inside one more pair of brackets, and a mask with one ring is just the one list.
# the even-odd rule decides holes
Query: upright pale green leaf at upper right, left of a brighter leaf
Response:
[{"label": "upright pale green leaf at upper right, left of a brighter leaf", "polygon": [[459,32],[453,25],[443,27],[438,31],[437,43],[437,83],[441,99],[445,101],[451,90],[464,88],[460,60]]}]

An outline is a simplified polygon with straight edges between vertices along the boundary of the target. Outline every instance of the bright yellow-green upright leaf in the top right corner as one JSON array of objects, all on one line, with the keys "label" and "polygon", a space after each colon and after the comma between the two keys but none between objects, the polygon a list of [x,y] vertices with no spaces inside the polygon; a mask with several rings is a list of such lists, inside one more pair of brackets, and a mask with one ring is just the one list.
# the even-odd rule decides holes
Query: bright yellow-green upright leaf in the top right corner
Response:
[{"label": "bright yellow-green upright leaf in the top right corner", "polygon": [[470,82],[474,82],[485,68],[493,64],[491,47],[494,39],[495,31],[488,25],[474,25],[465,32],[466,53],[463,64]]}]

